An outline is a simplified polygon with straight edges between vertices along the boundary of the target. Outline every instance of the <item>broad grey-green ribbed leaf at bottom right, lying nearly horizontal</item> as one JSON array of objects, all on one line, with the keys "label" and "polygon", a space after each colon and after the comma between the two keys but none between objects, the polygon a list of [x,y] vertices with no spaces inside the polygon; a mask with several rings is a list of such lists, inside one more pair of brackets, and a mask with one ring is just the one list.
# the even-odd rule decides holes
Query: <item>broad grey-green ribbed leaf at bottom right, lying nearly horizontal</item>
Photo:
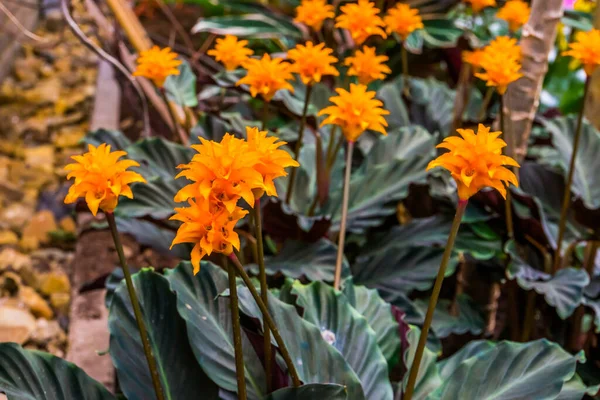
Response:
[{"label": "broad grey-green ribbed leaf at bottom right, lying nearly horizontal", "polygon": [[555,399],[575,374],[578,358],[547,340],[501,342],[463,359],[431,398]]}]

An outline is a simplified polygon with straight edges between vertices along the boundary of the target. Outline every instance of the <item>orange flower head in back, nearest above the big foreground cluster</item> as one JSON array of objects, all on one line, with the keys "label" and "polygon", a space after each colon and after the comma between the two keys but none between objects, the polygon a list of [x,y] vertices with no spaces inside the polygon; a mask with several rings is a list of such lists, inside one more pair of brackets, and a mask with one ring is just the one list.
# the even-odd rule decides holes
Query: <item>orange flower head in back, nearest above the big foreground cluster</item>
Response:
[{"label": "orange flower head in back, nearest above the big foreground cluster", "polygon": [[294,91],[289,82],[293,79],[292,66],[280,58],[272,59],[269,54],[265,54],[261,59],[249,58],[243,67],[248,73],[236,85],[250,86],[252,97],[260,94],[265,101],[271,101],[278,90]]}]

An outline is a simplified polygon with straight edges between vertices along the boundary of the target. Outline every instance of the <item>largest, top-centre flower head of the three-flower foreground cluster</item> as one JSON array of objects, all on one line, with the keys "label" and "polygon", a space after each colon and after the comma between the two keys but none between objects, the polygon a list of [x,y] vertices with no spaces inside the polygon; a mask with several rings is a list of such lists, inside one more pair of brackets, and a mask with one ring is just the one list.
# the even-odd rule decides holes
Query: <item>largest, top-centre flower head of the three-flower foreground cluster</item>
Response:
[{"label": "largest, top-centre flower head of the three-flower foreground cluster", "polygon": [[182,171],[176,178],[183,176],[192,183],[175,195],[175,201],[203,198],[221,202],[230,213],[240,198],[254,206],[252,190],[264,189],[263,177],[255,169],[259,154],[250,151],[245,140],[228,133],[220,143],[203,138],[200,141],[201,144],[192,146],[198,152],[192,161],[177,167]]}]

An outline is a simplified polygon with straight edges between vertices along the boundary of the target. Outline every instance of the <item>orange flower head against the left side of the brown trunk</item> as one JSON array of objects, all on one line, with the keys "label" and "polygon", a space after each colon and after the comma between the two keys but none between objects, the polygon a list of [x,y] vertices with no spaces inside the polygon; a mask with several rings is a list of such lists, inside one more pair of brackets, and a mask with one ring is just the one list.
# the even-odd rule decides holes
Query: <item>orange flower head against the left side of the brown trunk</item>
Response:
[{"label": "orange flower head against the left side of the brown trunk", "polygon": [[484,72],[475,74],[486,81],[487,86],[495,86],[499,94],[506,93],[508,85],[523,76],[521,63],[512,58],[507,58],[502,53],[485,52],[481,60]]}]

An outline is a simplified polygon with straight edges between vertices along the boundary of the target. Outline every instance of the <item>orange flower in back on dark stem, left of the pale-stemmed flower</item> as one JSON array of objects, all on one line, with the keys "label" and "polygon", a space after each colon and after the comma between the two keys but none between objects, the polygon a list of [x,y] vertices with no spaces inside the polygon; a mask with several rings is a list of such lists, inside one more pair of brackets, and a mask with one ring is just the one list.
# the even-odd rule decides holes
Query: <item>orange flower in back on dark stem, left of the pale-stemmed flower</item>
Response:
[{"label": "orange flower in back on dark stem, left of the pale-stemmed flower", "polygon": [[288,51],[288,58],[294,61],[292,71],[300,75],[305,85],[321,82],[323,75],[338,76],[340,73],[331,64],[337,62],[337,58],[331,55],[333,50],[326,48],[325,43],[313,45],[307,42],[305,46],[299,44]]}]

